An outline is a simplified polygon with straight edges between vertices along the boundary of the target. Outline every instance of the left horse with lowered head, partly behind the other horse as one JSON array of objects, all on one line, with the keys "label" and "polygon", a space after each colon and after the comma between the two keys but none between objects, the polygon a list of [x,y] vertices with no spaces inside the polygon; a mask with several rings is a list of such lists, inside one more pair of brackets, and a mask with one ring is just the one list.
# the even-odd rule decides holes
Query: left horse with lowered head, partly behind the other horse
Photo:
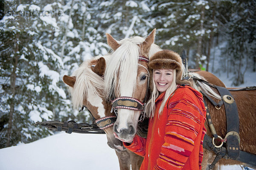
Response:
[{"label": "left horse with lowered head, partly behind the other horse", "polygon": [[64,75],[63,81],[68,85],[74,109],[86,107],[104,129],[108,146],[113,148],[119,160],[120,170],[139,170],[143,157],[126,150],[122,142],[113,135],[114,113],[111,113],[111,104],[104,100],[103,75],[105,65],[110,55],[97,56],[84,61],[72,76]]}]

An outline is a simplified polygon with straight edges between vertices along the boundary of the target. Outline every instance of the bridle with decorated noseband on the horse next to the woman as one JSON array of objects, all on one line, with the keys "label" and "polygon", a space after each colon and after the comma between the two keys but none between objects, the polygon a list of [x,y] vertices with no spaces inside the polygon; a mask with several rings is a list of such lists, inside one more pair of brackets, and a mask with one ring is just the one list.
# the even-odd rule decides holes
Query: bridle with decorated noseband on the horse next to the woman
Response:
[{"label": "bridle with decorated noseband on the horse next to the woman", "polygon": [[[143,56],[139,56],[139,60],[138,61],[145,61],[146,63],[149,62],[148,58],[145,58]],[[143,66],[141,64],[139,64],[140,66]],[[148,76],[150,75],[149,74],[149,71],[148,69],[143,66],[147,72],[148,72]],[[114,113],[116,114],[116,117],[118,116],[118,109],[131,109],[131,110],[138,110],[138,111],[141,111],[140,112],[140,119],[139,121],[143,121],[144,118],[146,117],[145,115],[145,101],[147,99],[147,95],[148,95],[148,89],[149,89],[149,77],[148,77],[148,82],[147,82],[147,89],[146,89],[146,94],[145,94],[145,97],[143,99],[143,101],[139,101],[138,99],[136,98],[132,98],[132,97],[127,97],[127,96],[121,96],[119,98],[114,98],[113,100],[111,100],[111,103],[112,103],[112,109],[111,109],[111,112],[114,111]],[[114,95],[113,95],[114,96]]]}]

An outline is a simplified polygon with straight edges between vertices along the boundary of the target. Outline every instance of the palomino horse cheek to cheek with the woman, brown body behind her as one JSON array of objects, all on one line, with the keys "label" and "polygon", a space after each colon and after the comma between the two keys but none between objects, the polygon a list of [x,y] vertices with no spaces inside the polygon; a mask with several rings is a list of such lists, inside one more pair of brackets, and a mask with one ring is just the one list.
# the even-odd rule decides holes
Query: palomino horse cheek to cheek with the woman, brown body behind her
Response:
[{"label": "palomino horse cheek to cheek with the woman, brown body behind her", "polygon": [[[147,97],[149,73],[146,61],[160,48],[154,44],[155,29],[146,38],[133,37],[116,41],[111,35],[106,35],[108,45],[114,50],[105,71],[105,95],[109,100],[113,100],[113,108],[118,115],[113,129],[120,139],[131,141],[136,134],[137,123],[140,114],[143,113],[141,110],[143,110],[145,98]],[[207,81],[218,86],[224,86],[218,78],[215,77],[215,80],[212,78],[207,78]],[[212,94],[211,96],[215,98],[214,100],[219,101],[220,96],[214,92],[214,89],[211,89],[206,84],[199,85],[204,86],[201,87],[202,91],[209,95]],[[194,88],[197,88],[195,84]],[[254,104],[256,90],[231,93],[235,98],[239,112],[240,148],[243,151],[256,154],[256,105]],[[115,106],[114,102],[117,103]],[[134,107],[132,104],[139,107]],[[217,134],[224,138],[226,135],[224,108],[221,107],[221,109],[217,110],[209,101],[207,101],[207,105],[209,105],[212,122]],[[207,127],[207,135],[212,137],[208,124],[206,123],[205,126]],[[212,151],[204,149],[203,169],[207,168],[207,163],[212,163],[212,158],[215,157],[212,153]],[[222,158],[219,164],[241,164],[241,162]]]}]

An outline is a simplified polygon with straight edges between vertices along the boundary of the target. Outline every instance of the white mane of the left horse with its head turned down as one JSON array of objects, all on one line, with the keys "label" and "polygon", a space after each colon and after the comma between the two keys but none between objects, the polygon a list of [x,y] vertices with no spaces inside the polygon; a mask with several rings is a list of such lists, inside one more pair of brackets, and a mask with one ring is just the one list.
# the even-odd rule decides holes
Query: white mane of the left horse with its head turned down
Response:
[{"label": "white mane of the left horse with its head turned down", "polygon": [[97,75],[91,69],[91,62],[97,58],[104,57],[106,62],[110,55],[97,56],[91,60],[84,61],[79,68],[73,72],[72,76],[76,76],[74,87],[69,86],[69,93],[74,109],[80,109],[83,105],[84,98],[90,95],[101,96],[103,91],[103,78]]}]

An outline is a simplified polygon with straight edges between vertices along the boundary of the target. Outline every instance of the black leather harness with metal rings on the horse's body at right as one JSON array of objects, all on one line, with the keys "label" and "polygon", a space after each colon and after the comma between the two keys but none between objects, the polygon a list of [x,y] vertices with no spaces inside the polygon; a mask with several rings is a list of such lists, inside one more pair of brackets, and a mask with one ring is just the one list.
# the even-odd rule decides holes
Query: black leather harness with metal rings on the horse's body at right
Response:
[{"label": "black leather harness with metal rings on the horse's body at right", "polygon": [[[211,133],[213,135],[213,138],[211,138],[207,134],[205,134],[203,147],[207,150],[212,150],[216,154],[214,161],[211,165],[209,165],[209,169],[212,169],[221,158],[241,161],[246,166],[256,168],[256,155],[244,152],[239,148],[240,136],[238,109],[236,106],[236,102],[230,93],[230,91],[255,90],[256,86],[247,86],[246,88],[241,89],[226,89],[225,87],[209,84],[207,81],[196,77],[191,78],[197,81],[201,81],[217,89],[219,94],[221,95],[221,101],[216,103],[206,93],[200,91],[204,97],[204,105],[207,110],[207,123],[209,124],[209,129],[211,130]],[[220,109],[220,107],[224,105],[227,120],[227,134],[224,139],[221,138],[221,136],[217,135],[216,130],[212,124],[212,119],[206,103],[206,98],[211,102],[212,105],[215,106],[216,109]],[[215,144],[215,139],[217,138],[221,141],[220,145]],[[223,145],[224,143],[225,145]]]}]

